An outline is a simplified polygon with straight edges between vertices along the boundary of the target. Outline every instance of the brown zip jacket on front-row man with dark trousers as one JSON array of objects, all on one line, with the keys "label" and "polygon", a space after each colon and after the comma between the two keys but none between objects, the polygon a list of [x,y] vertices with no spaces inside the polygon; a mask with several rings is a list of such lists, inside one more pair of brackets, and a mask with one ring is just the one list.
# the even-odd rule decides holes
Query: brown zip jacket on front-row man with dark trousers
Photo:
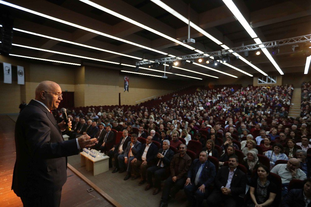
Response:
[{"label": "brown zip jacket on front-row man with dark trousers", "polygon": [[175,154],[170,165],[171,176],[176,176],[177,179],[185,177],[190,165],[191,158],[187,153],[182,157],[180,156],[180,153]]}]

